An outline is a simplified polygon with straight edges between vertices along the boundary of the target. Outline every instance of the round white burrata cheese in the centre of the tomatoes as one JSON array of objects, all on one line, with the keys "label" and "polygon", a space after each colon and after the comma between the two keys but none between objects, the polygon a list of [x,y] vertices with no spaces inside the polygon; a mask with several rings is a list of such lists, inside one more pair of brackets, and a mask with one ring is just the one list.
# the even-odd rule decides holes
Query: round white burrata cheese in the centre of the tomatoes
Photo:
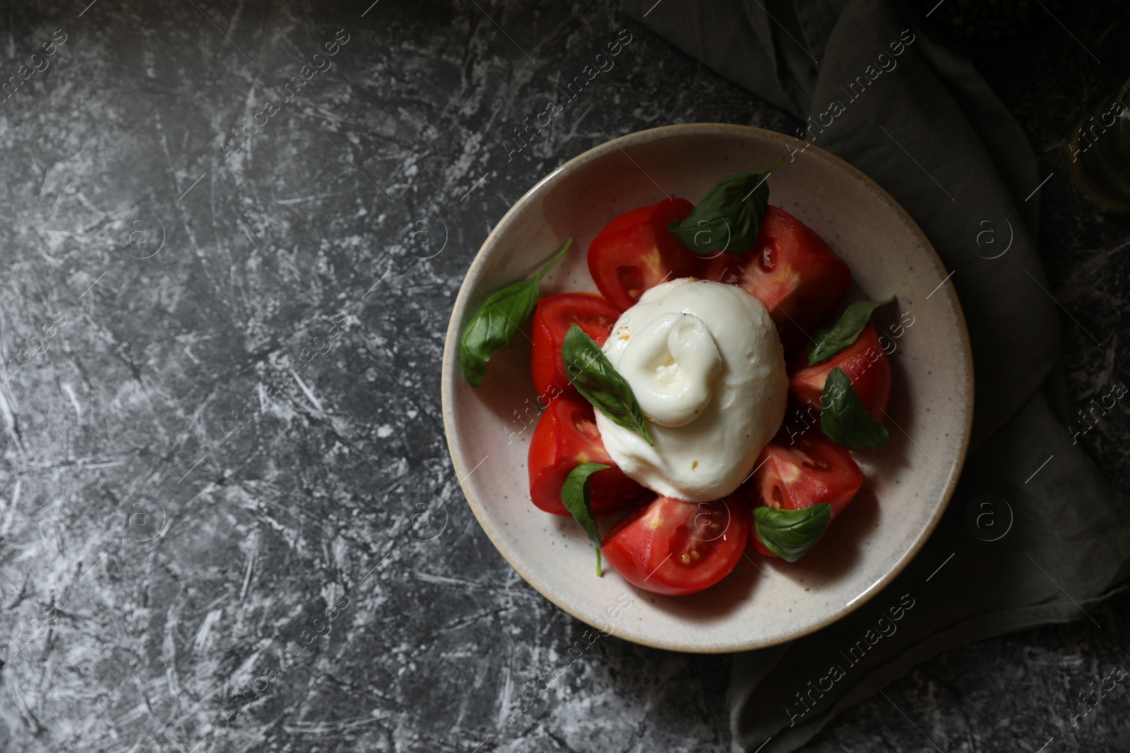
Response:
[{"label": "round white burrata cheese in the centre of the tomatoes", "polygon": [[605,448],[657,493],[706,502],[754,470],[784,418],[789,378],[768,312],[737,286],[683,278],[647,290],[603,347],[654,446],[597,411]]}]

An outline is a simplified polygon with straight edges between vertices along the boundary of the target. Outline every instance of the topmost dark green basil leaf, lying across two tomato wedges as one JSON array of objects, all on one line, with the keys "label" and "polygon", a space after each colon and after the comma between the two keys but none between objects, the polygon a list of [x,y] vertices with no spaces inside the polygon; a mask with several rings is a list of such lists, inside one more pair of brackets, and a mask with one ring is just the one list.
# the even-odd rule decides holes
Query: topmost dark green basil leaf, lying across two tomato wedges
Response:
[{"label": "topmost dark green basil leaf, lying across two tomato wedges", "polygon": [[696,254],[746,253],[757,243],[770,204],[766,181],[783,161],[779,159],[764,173],[740,173],[722,178],[687,219],[675,220],[668,230]]}]

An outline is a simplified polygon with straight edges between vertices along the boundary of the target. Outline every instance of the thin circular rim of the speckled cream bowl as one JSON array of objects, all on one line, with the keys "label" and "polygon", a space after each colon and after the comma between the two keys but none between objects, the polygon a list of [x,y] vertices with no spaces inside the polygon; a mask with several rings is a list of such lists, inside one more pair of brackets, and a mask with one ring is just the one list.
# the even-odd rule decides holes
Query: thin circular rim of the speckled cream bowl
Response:
[{"label": "thin circular rim of the speckled cream bowl", "polygon": [[[516,202],[514,202],[514,204],[506,211],[506,213],[498,221],[498,224],[490,230],[486,239],[483,242],[483,245],[479,246],[478,252],[476,252],[475,254],[475,259],[471,261],[471,265],[467,269],[467,272],[463,274],[463,281],[460,283],[459,295],[455,297],[455,301],[452,306],[451,317],[447,322],[447,332],[446,335],[444,336],[443,356],[442,356],[441,375],[440,375],[440,393],[441,393],[441,410],[443,413],[443,429],[445,439],[447,440],[447,454],[451,457],[451,464],[455,471],[455,478],[459,480],[459,487],[463,492],[463,497],[467,499],[468,506],[475,514],[475,518],[478,520],[479,527],[483,529],[484,533],[486,533],[487,537],[490,540],[490,543],[494,544],[494,548],[498,551],[498,553],[503,557],[503,559],[506,560],[506,562],[512,568],[514,568],[514,570],[518,571],[520,576],[522,576],[522,579],[525,580],[525,583],[528,583],[530,586],[532,586],[534,590],[545,596],[547,599],[549,599],[550,603],[553,603],[562,611],[568,613],[573,618],[580,620],[582,623],[588,624],[592,628],[597,628],[598,625],[594,625],[593,623],[589,622],[589,620],[585,619],[584,616],[576,614],[572,610],[560,604],[557,601],[557,598],[554,597],[553,594],[548,593],[547,588],[542,587],[539,577],[531,573],[524,566],[511,559],[510,554],[501,545],[498,535],[501,532],[494,531],[493,527],[487,524],[487,522],[485,520],[485,515],[484,515],[485,507],[483,502],[470,493],[469,488],[466,483],[467,476],[463,474],[463,469],[460,466],[460,462],[455,453],[455,445],[453,440],[454,437],[453,434],[454,410],[452,405],[453,395],[449,393],[454,388],[455,384],[454,380],[461,378],[460,375],[455,374],[459,361],[458,330],[459,325],[461,324],[463,310],[467,308],[468,301],[471,299],[473,292],[471,289],[473,286],[468,286],[467,279],[471,275],[471,273],[476,272],[480,266],[483,266],[486,263],[487,249],[496,245],[499,238],[502,238],[502,236],[504,236],[510,230],[510,226],[514,222],[518,213],[521,210],[523,210],[527,204],[532,202],[533,196],[540,193],[545,189],[545,186],[549,185],[553,182],[563,180],[562,177],[563,175],[574,170],[575,168],[582,165],[602,158],[608,154],[612,154],[618,150],[623,151],[624,147],[628,145],[646,143],[650,141],[678,138],[684,135],[719,135],[719,134],[739,135],[739,137],[756,134],[762,139],[775,141],[776,143],[783,147],[792,147],[796,143],[807,145],[805,147],[806,155],[811,154],[812,157],[816,159],[822,159],[825,163],[832,165],[833,167],[846,170],[866,189],[869,189],[872,193],[875,193],[880,201],[886,202],[907,224],[907,226],[912,229],[912,231],[918,234],[924,249],[927,251],[927,256],[930,259],[930,261],[933,262],[936,270],[939,272],[939,275],[946,277],[947,274],[946,266],[942,263],[941,257],[938,256],[938,252],[935,249],[933,244],[930,243],[929,237],[927,237],[925,233],[922,231],[922,228],[919,227],[918,222],[914,221],[914,218],[911,217],[910,212],[903,209],[903,207],[897,201],[895,201],[894,198],[883,189],[883,186],[880,186],[878,183],[871,180],[868,175],[866,175],[863,172],[861,172],[850,163],[845,161],[844,159],[833,155],[832,152],[825,149],[822,149],[820,147],[817,147],[814,143],[801,141],[800,139],[794,139],[790,135],[780,133],[777,131],[771,131],[767,129],[762,129],[753,125],[739,125],[736,123],[681,123],[675,125],[661,125],[658,128],[646,129],[643,131],[634,131],[632,133],[626,133],[615,139],[609,139],[608,141],[597,145],[591,149],[586,149],[580,155],[571,158],[563,165],[553,169],[548,175],[538,181],[525,193],[523,193],[522,196]],[[744,642],[742,641],[728,642],[725,645],[704,647],[698,645],[681,645],[675,641],[652,640],[646,637],[637,637],[637,636],[633,637],[618,636],[618,637],[624,638],[624,640],[627,640],[629,642],[638,643],[642,646],[649,646],[651,648],[659,648],[670,651],[693,653],[693,654],[729,654],[733,651],[745,651],[758,648],[768,648],[771,646],[779,646],[782,643],[797,640],[798,638],[803,638],[805,636],[809,636],[847,616],[852,612],[863,606],[863,604],[867,604],[869,601],[871,601],[871,598],[873,598],[886,586],[888,586],[890,581],[898,576],[898,573],[901,573],[904,569],[906,569],[906,566],[910,564],[911,560],[913,560],[914,557],[925,545],[927,540],[930,539],[930,535],[933,533],[935,528],[937,528],[938,523],[941,520],[942,515],[945,515],[946,509],[949,507],[949,502],[954,497],[954,492],[960,479],[962,470],[965,466],[965,458],[968,454],[970,438],[973,429],[973,404],[975,395],[973,389],[974,387],[973,350],[970,343],[970,332],[965,323],[965,313],[962,309],[960,300],[957,297],[956,289],[954,288],[954,283],[951,282],[950,278],[946,277],[946,279],[942,281],[942,287],[945,288],[946,296],[949,303],[953,305],[954,312],[957,317],[960,349],[964,354],[964,361],[966,366],[965,387],[968,394],[968,402],[966,404],[966,411],[965,411],[965,430],[962,436],[960,447],[956,456],[956,462],[954,463],[954,471],[948,482],[946,483],[946,488],[942,490],[941,504],[938,505],[930,520],[927,523],[925,527],[921,531],[918,539],[915,539],[915,541],[911,544],[911,546],[898,555],[898,558],[895,560],[892,567],[889,567],[887,571],[878,580],[868,586],[867,589],[862,592],[859,596],[857,596],[854,599],[849,602],[846,605],[838,607],[823,620],[818,620],[816,623],[807,625],[802,630],[798,630],[797,632],[789,634],[786,638],[777,637],[768,640],[751,639]]]}]

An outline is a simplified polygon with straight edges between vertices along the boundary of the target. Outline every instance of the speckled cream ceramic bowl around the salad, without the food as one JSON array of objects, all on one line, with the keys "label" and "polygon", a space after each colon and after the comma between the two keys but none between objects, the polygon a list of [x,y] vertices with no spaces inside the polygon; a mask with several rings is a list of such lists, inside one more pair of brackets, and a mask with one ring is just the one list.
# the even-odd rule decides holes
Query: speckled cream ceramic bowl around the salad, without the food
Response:
[{"label": "speckled cream ceramic bowl around the salad, without the food", "polygon": [[[799,638],[849,614],[914,557],[940,519],[965,459],[973,417],[968,333],[930,242],[895,201],[847,163],[797,139],[741,125],[669,125],[614,139],[558,167],[515,203],[463,280],[443,352],[443,420],[452,463],[483,531],[538,592],[606,634],[657,648],[722,653]],[[790,156],[792,157],[790,159]],[[747,550],[733,572],[690,596],[636,589],[606,567],[572,517],[529,499],[527,454],[542,408],[519,334],[478,388],[459,364],[459,336],[486,296],[524,279],[573,236],[541,295],[596,291],[585,253],[617,214],[670,195],[692,202],[733,173],[762,170],[770,203],[820,234],[851,265],[855,298],[896,295],[876,315],[893,388],[892,441],[855,453],[866,480],[820,543],[796,563]],[[601,523],[606,533],[611,522]]]}]

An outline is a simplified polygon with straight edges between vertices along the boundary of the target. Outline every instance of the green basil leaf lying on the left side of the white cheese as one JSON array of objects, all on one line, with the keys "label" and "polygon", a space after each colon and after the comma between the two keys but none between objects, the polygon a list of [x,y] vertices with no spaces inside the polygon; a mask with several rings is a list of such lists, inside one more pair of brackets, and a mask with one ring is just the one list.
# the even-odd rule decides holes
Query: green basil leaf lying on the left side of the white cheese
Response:
[{"label": "green basil leaf lying on the left side of the white cheese", "polygon": [[581,395],[612,423],[631,429],[654,445],[647,419],[636,402],[632,386],[616,373],[608,357],[576,324],[570,326],[562,345],[565,374]]}]

